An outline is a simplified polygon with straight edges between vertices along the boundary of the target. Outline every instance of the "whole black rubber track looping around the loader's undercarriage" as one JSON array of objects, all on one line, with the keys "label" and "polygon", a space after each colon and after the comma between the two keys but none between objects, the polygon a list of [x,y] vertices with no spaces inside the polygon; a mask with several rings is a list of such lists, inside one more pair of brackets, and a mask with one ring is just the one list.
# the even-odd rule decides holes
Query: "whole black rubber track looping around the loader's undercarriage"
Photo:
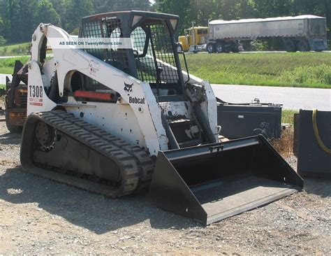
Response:
[{"label": "whole black rubber track looping around the loader's undercarriage", "polygon": [[[57,172],[54,171],[56,170],[54,168],[38,167],[38,164],[33,161],[34,148],[36,148],[34,130],[38,122],[45,122],[75,141],[83,143],[101,155],[112,159],[119,166],[122,176],[121,185],[111,187],[68,175],[63,170]],[[145,150],[64,111],[48,111],[29,115],[24,124],[21,144],[20,159],[25,170],[37,176],[66,183],[89,192],[104,194],[108,197],[121,197],[143,190],[149,186],[150,180],[152,180],[154,164]],[[67,173],[71,172],[68,171]]]}]

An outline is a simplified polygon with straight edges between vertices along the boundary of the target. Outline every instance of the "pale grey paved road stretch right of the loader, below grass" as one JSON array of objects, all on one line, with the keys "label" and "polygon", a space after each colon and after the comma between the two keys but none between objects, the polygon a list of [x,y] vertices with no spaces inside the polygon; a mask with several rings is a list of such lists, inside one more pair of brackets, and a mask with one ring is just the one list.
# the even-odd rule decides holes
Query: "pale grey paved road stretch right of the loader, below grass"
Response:
[{"label": "pale grey paved road stretch right of the loader, below grass", "polygon": [[212,85],[216,97],[233,103],[260,102],[283,104],[284,108],[331,111],[331,89],[268,87],[251,85]]}]

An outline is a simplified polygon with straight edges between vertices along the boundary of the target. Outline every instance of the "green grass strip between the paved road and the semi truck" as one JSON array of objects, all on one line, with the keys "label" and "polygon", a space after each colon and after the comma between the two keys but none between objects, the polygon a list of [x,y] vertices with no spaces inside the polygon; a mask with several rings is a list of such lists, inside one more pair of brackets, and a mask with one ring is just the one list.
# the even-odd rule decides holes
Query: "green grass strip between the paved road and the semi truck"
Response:
[{"label": "green grass strip between the paved road and the semi truck", "polygon": [[210,83],[331,88],[330,52],[191,54],[186,60],[190,73]]}]

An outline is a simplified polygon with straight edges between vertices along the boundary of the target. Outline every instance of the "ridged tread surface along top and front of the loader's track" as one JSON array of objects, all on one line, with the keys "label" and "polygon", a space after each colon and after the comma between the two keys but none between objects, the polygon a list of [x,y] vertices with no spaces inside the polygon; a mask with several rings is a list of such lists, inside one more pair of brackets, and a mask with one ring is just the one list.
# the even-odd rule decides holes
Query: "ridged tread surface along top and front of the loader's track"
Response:
[{"label": "ridged tread surface along top and front of the loader's track", "polygon": [[[122,185],[112,197],[131,194],[149,186],[154,164],[147,152],[137,146],[64,111],[34,113],[28,118],[37,118],[116,162],[122,174]],[[96,192],[100,193],[99,190]]]}]

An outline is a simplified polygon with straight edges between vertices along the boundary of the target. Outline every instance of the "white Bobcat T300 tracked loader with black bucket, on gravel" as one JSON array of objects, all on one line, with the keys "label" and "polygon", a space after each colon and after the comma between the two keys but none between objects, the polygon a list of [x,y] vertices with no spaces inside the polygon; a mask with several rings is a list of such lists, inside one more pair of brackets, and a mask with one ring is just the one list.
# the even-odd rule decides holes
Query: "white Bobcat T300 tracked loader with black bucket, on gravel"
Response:
[{"label": "white Bobcat T300 tracked loader with black bucket, on gravel", "polygon": [[157,206],[204,224],[301,190],[263,136],[219,141],[211,86],[182,71],[178,20],[142,11],[84,17],[79,38],[132,43],[85,50],[47,46],[73,39],[40,24],[27,64],[24,169],[109,197],[149,188]]}]

